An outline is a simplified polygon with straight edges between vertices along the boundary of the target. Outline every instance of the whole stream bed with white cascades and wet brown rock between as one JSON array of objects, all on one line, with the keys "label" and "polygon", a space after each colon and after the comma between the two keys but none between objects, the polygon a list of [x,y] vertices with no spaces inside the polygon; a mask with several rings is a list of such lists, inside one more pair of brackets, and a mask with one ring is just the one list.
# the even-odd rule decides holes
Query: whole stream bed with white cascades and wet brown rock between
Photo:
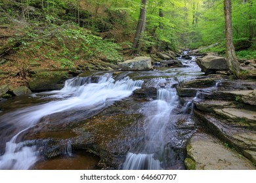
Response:
[{"label": "whole stream bed with white cascades and wet brown rock between", "polygon": [[2,101],[0,169],[185,169],[196,95],[181,101],[175,86],[205,76],[195,57],[179,59],[184,67],[87,73]]}]

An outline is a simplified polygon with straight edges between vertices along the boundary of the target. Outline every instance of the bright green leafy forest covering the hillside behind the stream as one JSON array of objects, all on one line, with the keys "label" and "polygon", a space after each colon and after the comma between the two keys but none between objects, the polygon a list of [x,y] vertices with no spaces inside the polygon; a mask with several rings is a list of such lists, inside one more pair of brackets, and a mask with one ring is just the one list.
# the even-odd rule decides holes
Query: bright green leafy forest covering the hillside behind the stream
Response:
[{"label": "bright green leafy forest covering the hillside behind the stream", "polygon": [[[253,1],[232,1],[232,33],[238,58],[256,56]],[[30,63],[74,67],[85,60],[116,63],[132,54],[179,52],[211,44],[216,46],[202,52],[224,55],[226,49],[221,0],[3,0],[0,14],[0,39],[5,45],[0,54],[3,56],[11,44],[13,50],[18,49],[13,59],[25,70],[28,59]],[[138,34],[139,24],[142,29]]]}]

